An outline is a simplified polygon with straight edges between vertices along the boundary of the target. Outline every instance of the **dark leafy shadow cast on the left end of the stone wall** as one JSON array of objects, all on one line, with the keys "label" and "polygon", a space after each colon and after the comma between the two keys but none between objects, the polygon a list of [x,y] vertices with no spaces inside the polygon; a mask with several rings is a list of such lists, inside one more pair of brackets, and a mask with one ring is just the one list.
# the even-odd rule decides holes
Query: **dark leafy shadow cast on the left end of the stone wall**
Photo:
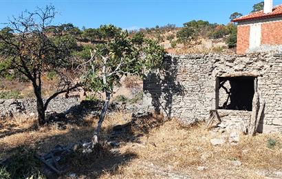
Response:
[{"label": "dark leafy shadow cast on the left end of the stone wall", "polygon": [[155,112],[164,112],[166,117],[171,117],[173,95],[182,95],[184,86],[177,82],[177,60],[166,56],[164,65],[164,71],[144,77],[143,91],[151,95]]}]

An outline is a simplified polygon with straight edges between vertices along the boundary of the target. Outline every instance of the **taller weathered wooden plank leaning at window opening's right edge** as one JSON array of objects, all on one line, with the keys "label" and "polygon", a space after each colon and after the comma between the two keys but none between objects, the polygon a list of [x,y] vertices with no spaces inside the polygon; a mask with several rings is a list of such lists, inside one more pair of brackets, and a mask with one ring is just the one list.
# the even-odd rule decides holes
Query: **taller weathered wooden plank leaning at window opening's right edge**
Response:
[{"label": "taller weathered wooden plank leaning at window opening's right edge", "polygon": [[258,110],[259,110],[259,93],[254,93],[254,98],[252,99],[252,115],[250,117],[250,125],[248,128],[249,135],[254,134]]}]

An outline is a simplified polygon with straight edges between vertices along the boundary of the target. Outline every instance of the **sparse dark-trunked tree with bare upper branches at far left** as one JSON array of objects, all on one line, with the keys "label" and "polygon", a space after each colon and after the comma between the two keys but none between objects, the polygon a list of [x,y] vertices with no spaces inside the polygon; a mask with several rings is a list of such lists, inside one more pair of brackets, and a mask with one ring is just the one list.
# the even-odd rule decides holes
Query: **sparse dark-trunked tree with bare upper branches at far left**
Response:
[{"label": "sparse dark-trunked tree with bare upper branches at far left", "polygon": [[[17,71],[32,82],[40,125],[45,123],[45,110],[54,97],[80,86],[65,75],[71,70],[69,56],[76,47],[76,39],[63,34],[47,36],[55,14],[52,5],[37,8],[13,18],[0,31],[0,73]],[[41,77],[48,71],[56,71],[61,78],[56,93],[44,102]]]}]

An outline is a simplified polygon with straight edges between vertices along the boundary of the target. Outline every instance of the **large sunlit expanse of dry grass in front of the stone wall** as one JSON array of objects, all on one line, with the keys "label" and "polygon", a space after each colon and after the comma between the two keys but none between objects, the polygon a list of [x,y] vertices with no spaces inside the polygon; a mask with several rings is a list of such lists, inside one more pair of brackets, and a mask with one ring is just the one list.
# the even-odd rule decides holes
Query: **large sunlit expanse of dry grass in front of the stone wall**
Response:
[{"label": "large sunlit expanse of dry grass in front of the stone wall", "polygon": [[[216,135],[219,134],[211,134],[202,124],[183,128],[175,120],[168,121],[142,136],[141,143],[122,146],[122,153],[134,152],[138,157],[114,174],[105,173],[102,178],[164,178],[170,175],[263,178],[259,171],[282,170],[281,149],[278,145],[274,149],[267,147],[269,138],[282,143],[281,135],[241,136],[238,145],[213,146],[210,139]],[[235,166],[233,160],[239,160],[242,165]],[[206,169],[198,171],[199,166]]]}]

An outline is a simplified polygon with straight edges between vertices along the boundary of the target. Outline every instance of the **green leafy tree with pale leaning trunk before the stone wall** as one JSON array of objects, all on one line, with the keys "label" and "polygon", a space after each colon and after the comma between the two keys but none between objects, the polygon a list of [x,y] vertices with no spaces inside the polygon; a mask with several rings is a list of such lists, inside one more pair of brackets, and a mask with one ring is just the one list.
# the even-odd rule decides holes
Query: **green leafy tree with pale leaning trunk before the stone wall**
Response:
[{"label": "green leafy tree with pale leaning trunk before the stone wall", "polygon": [[106,33],[109,34],[106,38],[108,40],[96,45],[89,60],[89,73],[85,77],[88,88],[103,92],[106,96],[92,146],[98,143],[98,134],[109,106],[113,86],[120,84],[124,75],[142,76],[151,69],[162,69],[164,56],[164,48],[158,42],[144,38],[140,33],[131,37],[113,25],[107,25],[105,29],[115,33]]}]

